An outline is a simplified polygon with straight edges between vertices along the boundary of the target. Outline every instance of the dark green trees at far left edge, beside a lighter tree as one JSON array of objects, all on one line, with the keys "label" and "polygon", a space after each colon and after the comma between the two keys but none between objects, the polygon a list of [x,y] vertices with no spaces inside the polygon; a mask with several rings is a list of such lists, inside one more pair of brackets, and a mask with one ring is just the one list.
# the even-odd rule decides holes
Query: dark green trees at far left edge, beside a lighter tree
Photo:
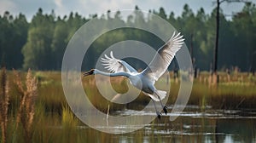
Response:
[{"label": "dark green trees at far left edge, beside a lighter tree", "polygon": [[26,43],[28,26],[24,14],[14,18],[5,12],[0,16],[0,64],[15,69],[22,67],[21,49]]}]

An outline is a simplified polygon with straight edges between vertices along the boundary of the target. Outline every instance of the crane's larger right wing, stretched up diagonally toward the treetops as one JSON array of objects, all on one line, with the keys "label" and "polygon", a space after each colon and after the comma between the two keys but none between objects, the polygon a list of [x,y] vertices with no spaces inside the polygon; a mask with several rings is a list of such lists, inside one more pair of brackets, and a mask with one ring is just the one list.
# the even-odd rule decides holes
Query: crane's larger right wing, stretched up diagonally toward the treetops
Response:
[{"label": "crane's larger right wing, stretched up diagonally toward the treetops", "polygon": [[143,74],[151,78],[153,82],[157,81],[158,78],[166,72],[174,55],[181,49],[183,41],[183,36],[181,36],[180,33],[176,35],[175,32],[173,32],[170,40],[157,51],[157,54],[154,55],[154,59],[143,71]]}]

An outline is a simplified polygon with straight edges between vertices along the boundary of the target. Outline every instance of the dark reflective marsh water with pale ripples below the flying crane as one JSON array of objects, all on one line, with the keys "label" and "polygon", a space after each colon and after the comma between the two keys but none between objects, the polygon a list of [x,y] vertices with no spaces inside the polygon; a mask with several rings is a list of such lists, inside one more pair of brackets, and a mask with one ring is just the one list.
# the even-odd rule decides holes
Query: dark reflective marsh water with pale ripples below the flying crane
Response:
[{"label": "dark reflective marsh water with pale ripples below the flying crane", "polygon": [[[169,108],[170,110],[170,108]],[[118,116],[139,114],[155,116],[154,112],[141,112],[126,109],[114,112]],[[118,129],[121,134],[107,134],[81,126],[88,135],[90,142],[256,142],[256,111],[213,110],[210,106],[201,109],[199,106],[186,106],[176,120],[170,121],[170,116],[162,115],[152,123],[144,124],[142,129],[131,133],[122,133],[127,126],[99,127]]]}]

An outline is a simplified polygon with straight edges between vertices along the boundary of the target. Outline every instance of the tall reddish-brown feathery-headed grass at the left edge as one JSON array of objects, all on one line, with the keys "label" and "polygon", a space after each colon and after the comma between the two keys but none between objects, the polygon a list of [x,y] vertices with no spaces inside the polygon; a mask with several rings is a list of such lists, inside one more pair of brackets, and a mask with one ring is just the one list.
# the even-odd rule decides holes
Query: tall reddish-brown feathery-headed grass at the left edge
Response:
[{"label": "tall reddish-brown feathery-headed grass at the left edge", "polygon": [[[7,79],[6,69],[1,70],[1,95],[0,95],[0,121],[2,142],[9,140],[17,141],[18,132],[22,134],[23,140],[32,142],[32,123],[35,113],[35,97],[38,95],[38,82],[35,77],[32,77],[32,72],[29,70],[26,75],[25,87],[21,81],[18,72],[15,72],[14,84],[20,95],[19,106],[11,108],[15,110],[15,115],[9,117],[9,80]],[[21,127],[20,127],[21,125]],[[9,129],[9,131],[7,130]],[[19,140],[20,141],[20,140]]]}]

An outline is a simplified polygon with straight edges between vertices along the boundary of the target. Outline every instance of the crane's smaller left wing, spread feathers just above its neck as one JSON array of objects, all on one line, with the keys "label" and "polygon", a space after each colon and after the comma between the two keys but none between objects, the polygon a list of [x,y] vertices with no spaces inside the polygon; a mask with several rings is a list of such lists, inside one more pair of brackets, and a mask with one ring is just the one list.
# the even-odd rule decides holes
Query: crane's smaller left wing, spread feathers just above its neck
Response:
[{"label": "crane's smaller left wing, spread feathers just above its neck", "polygon": [[108,69],[109,72],[136,72],[137,71],[127,64],[124,60],[118,60],[113,57],[113,52],[110,52],[110,57],[105,54],[105,58],[102,58],[102,65]]}]

